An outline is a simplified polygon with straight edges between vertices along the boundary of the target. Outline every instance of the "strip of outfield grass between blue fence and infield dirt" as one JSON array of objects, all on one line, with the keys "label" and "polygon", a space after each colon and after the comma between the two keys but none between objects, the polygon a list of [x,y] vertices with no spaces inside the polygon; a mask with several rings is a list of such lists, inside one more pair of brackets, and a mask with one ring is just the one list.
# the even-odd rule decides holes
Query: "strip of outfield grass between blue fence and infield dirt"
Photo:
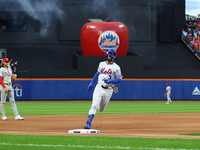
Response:
[{"label": "strip of outfield grass between blue fence and infield dirt", "polygon": [[[91,102],[17,102],[21,115],[72,115],[88,114]],[[146,113],[200,113],[200,102],[110,102],[97,114],[146,114]],[[7,116],[13,115],[6,103]]]}]

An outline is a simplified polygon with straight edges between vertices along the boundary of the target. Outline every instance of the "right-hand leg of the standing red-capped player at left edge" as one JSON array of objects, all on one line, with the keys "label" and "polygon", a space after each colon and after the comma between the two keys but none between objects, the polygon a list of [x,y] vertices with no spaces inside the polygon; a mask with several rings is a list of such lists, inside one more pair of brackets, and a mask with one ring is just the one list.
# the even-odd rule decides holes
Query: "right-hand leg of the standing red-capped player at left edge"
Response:
[{"label": "right-hand leg of the standing red-capped player at left edge", "polygon": [[15,114],[15,120],[24,120],[23,117],[21,117],[18,113],[18,110],[17,110],[17,105],[15,103],[15,97],[14,97],[14,91],[12,88],[9,89],[9,92],[8,92],[8,99],[11,103],[11,106],[12,106],[12,110]]}]

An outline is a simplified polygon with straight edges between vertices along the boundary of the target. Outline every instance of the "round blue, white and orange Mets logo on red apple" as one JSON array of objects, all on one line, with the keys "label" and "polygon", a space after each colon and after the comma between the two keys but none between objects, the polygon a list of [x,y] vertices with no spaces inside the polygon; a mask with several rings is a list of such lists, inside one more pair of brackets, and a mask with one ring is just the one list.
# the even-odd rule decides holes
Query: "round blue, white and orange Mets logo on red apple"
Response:
[{"label": "round blue, white and orange Mets logo on red apple", "polygon": [[105,31],[98,39],[99,47],[104,52],[107,52],[111,48],[116,50],[119,47],[119,43],[119,36],[114,31]]}]

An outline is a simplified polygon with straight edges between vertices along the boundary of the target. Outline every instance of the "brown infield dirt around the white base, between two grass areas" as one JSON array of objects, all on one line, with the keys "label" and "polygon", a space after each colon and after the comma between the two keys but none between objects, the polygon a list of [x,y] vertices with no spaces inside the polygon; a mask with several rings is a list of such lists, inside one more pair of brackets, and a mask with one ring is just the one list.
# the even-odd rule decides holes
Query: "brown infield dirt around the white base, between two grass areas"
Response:
[{"label": "brown infield dirt around the white base, between two grass areas", "polygon": [[97,114],[92,129],[98,134],[69,134],[68,130],[82,129],[87,115],[24,116],[25,120],[0,120],[0,133],[28,135],[117,136],[151,138],[194,138],[200,136],[179,135],[200,132],[200,113],[178,114]]}]

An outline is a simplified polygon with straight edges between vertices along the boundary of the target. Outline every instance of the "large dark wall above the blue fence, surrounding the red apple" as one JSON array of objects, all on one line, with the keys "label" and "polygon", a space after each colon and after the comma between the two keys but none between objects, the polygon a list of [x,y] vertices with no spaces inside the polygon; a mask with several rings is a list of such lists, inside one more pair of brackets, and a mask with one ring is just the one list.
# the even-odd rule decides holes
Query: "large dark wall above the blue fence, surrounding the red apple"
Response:
[{"label": "large dark wall above the blue fence, surrounding the red apple", "polygon": [[[42,4],[55,2],[30,1]],[[0,11],[26,10],[16,2],[18,1],[1,0]],[[161,65],[160,61],[152,59],[163,55],[156,49],[156,44],[160,41],[173,42],[174,39],[180,39],[185,15],[185,4],[182,0],[56,0],[54,4],[57,8],[51,12],[38,8],[35,10],[44,18],[41,23],[48,25],[45,34],[0,33],[0,48],[6,48],[8,57],[19,61],[19,71],[27,70],[29,77],[91,77],[93,73],[73,69],[73,52],[81,51],[80,31],[81,27],[89,22],[89,18],[110,18],[111,21],[123,22],[129,29],[128,51],[138,50],[145,65]],[[58,8],[64,13],[56,13]],[[143,66],[142,62],[138,65],[125,65],[126,63],[122,63],[122,67],[129,78],[159,76],[153,71],[147,74],[145,70],[138,71],[137,69]],[[174,75],[173,72],[172,74]]]}]

